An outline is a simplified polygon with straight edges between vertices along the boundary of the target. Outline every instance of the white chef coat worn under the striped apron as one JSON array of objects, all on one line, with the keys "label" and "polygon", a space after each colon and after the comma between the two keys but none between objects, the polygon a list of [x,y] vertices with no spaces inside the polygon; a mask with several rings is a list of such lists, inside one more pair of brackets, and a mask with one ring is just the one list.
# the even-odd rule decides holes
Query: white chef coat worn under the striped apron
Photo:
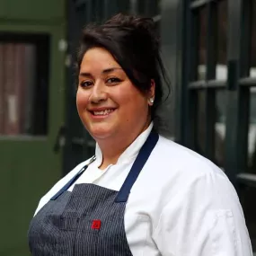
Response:
[{"label": "white chef coat worn under the striped apron", "polygon": [[[153,124],[105,170],[96,161],[75,183],[119,190]],[[40,200],[36,213],[89,161],[78,164]],[[74,185],[69,188],[73,190]],[[130,192],[125,230],[134,256],[251,256],[243,209],[225,173],[162,136]]]}]

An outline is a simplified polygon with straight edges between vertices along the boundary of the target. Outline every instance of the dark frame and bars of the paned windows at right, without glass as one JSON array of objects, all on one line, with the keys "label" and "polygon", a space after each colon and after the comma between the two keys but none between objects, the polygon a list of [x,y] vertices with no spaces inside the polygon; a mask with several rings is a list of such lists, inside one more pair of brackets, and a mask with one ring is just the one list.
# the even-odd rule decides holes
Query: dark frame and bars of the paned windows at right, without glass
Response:
[{"label": "dark frame and bars of the paned windows at right, without glass", "polygon": [[[228,53],[227,81],[216,80],[216,4],[223,0],[183,0],[181,1],[182,28],[181,43],[181,113],[177,119],[181,132],[178,141],[197,150],[198,92],[206,95],[206,130],[204,152],[207,158],[215,160],[215,121],[213,106],[216,90],[225,90],[226,106],[225,173],[239,190],[241,182],[256,186],[256,179],[247,172],[248,126],[250,112],[250,87],[256,86],[256,79],[249,77],[250,37],[252,33],[250,1],[228,1]],[[225,0],[226,1],[226,0]],[[207,76],[198,80],[199,9],[207,6]],[[241,39],[241,40],[237,40]],[[244,49],[246,49],[244,51]],[[247,50],[248,49],[248,50]],[[179,67],[178,67],[179,69]],[[178,70],[179,71],[179,70]],[[256,176],[255,176],[256,177]],[[239,178],[239,179],[237,179]],[[255,183],[255,184],[254,184]]]}]

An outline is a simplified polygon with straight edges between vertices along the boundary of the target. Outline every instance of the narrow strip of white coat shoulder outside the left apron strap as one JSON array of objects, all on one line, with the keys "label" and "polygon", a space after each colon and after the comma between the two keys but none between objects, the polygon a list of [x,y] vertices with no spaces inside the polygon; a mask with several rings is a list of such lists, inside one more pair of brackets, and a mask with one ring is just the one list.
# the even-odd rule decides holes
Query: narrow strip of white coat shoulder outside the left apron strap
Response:
[{"label": "narrow strip of white coat shoulder outside the left apron strap", "polygon": [[43,207],[49,201],[49,199],[51,199],[57,193],[58,190],[61,190],[66,185],[66,183],[70,181],[75,176],[75,174],[84,167],[84,165],[88,164],[90,160],[91,158],[77,164],[72,171],[68,172],[66,176],[57,181],[57,183],[40,199],[40,203],[36,209],[35,214],[37,214],[40,208]]}]

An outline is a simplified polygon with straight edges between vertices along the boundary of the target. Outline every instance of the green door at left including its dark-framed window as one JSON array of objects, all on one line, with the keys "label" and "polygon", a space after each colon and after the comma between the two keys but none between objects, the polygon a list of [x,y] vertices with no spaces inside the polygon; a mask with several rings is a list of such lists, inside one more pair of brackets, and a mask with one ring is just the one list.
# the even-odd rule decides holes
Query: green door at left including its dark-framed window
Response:
[{"label": "green door at left including its dark-framed window", "polygon": [[40,2],[0,1],[1,256],[29,255],[31,217],[62,172],[64,1]]}]

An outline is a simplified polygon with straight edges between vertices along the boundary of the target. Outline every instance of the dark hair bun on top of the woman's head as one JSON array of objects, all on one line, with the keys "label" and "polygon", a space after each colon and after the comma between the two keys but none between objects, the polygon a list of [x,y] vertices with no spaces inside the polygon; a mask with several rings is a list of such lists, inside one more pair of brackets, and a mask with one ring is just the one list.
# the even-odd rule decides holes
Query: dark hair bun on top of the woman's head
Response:
[{"label": "dark hair bun on top of the woman's head", "polygon": [[137,15],[116,14],[109,21],[105,22],[107,26],[118,26],[124,29],[133,30],[147,35],[153,42],[156,49],[159,48],[159,36],[156,32],[156,26],[152,18],[140,17]]}]

